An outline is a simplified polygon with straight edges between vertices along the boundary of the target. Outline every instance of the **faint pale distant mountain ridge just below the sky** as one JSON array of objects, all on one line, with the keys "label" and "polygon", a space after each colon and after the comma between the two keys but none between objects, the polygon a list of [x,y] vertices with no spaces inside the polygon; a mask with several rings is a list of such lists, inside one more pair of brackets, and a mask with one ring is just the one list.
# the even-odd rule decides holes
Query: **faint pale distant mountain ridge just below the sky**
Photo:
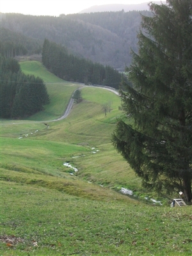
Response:
[{"label": "faint pale distant mountain ridge just below the sky", "polygon": [[[92,13],[92,12],[119,12],[124,10],[124,12],[131,12],[131,11],[143,11],[149,10],[148,3],[141,3],[141,4],[102,4],[102,5],[95,5],[91,6],[90,8],[86,8],[79,13]],[[156,4],[165,4],[166,1],[157,1]]]}]

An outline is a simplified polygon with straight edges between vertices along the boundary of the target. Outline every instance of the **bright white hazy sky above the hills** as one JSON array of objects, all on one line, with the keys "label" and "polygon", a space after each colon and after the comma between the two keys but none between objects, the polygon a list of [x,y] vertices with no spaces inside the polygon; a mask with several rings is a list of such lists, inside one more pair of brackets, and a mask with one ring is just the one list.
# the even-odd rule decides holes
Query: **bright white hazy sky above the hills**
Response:
[{"label": "bright white hazy sky above the hills", "polygon": [[0,0],[0,12],[59,16],[61,13],[77,13],[93,5],[138,4],[150,1],[152,0]]}]

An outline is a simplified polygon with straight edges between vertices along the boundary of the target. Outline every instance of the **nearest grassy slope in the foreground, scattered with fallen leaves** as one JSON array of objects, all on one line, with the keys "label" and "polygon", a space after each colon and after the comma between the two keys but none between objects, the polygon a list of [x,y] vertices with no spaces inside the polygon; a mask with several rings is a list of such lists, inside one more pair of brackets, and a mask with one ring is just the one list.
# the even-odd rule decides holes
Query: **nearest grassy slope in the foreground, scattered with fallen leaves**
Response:
[{"label": "nearest grassy slope in the foreground, scattered with fallen leaves", "polygon": [[1,182],[1,255],[191,255],[189,207],[149,207],[90,184],[84,198],[67,193],[69,180],[35,179]]}]

